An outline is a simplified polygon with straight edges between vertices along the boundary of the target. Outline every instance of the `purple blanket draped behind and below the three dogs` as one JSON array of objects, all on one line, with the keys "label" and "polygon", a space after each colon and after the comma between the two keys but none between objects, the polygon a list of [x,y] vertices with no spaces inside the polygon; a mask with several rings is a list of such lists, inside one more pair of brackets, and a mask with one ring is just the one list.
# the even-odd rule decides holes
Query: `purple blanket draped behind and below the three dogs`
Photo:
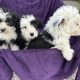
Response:
[{"label": "purple blanket draped behind and below the three dogs", "polygon": [[[61,0],[0,0],[0,6],[19,15],[34,14],[46,23],[53,12],[63,5]],[[43,27],[42,26],[42,27]],[[71,76],[80,64],[80,38],[72,37],[74,58],[66,61],[59,50],[0,51],[0,80],[10,80],[14,71],[21,80],[63,80]],[[80,80],[80,67],[76,76]]]}]

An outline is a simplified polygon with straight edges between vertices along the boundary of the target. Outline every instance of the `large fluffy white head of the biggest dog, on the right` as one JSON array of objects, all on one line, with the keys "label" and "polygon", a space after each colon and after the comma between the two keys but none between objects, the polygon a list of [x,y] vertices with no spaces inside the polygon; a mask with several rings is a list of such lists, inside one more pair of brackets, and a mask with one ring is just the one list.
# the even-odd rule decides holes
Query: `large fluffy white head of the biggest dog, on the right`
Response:
[{"label": "large fluffy white head of the biggest dog, on the right", "polygon": [[59,8],[46,24],[45,30],[53,34],[61,31],[64,35],[80,35],[80,14],[74,6],[62,6]]}]

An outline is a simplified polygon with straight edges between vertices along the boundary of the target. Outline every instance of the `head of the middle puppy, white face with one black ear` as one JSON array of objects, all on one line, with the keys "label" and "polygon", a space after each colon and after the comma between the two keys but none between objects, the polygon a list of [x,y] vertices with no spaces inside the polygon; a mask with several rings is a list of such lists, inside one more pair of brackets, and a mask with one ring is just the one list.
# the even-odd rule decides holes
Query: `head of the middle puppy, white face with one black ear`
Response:
[{"label": "head of the middle puppy, white face with one black ear", "polygon": [[26,41],[30,41],[38,36],[39,21],[33,15],[22,16],[20,20],[21,34]]}]

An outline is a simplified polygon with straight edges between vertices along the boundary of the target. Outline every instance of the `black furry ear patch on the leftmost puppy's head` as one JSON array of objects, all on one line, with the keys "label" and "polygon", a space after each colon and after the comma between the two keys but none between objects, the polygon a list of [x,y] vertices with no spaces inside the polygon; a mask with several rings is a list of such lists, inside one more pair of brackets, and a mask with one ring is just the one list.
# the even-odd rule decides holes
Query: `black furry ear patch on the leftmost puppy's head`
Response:
[{"label": "black furry ear patch on the leftmost puppy's head", "polygon": [[7,23],[8,26],[15,27],[17,35],[20,35],[21,31],[20,31],[19,16],[14,13],[9,13],[8,15],[11,16],[11,18],[7,17],[5,22]]}]

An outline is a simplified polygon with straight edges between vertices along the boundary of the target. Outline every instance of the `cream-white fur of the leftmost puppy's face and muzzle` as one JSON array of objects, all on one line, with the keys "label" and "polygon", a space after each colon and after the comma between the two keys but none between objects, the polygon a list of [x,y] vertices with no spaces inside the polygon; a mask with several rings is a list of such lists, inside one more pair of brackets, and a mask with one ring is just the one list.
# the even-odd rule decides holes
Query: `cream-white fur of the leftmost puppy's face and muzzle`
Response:
[{"label": "cream-white fur of the leftmost puppy's face and muzzle", "polygon": [[[1,30],[5,29],[4,32]],[[0,39],[6,40],[7,42],[10,42],[11,39],[16,39],[17,34],[15,33],[15,28],[8,26],[5,22],[0,23]]]}]

